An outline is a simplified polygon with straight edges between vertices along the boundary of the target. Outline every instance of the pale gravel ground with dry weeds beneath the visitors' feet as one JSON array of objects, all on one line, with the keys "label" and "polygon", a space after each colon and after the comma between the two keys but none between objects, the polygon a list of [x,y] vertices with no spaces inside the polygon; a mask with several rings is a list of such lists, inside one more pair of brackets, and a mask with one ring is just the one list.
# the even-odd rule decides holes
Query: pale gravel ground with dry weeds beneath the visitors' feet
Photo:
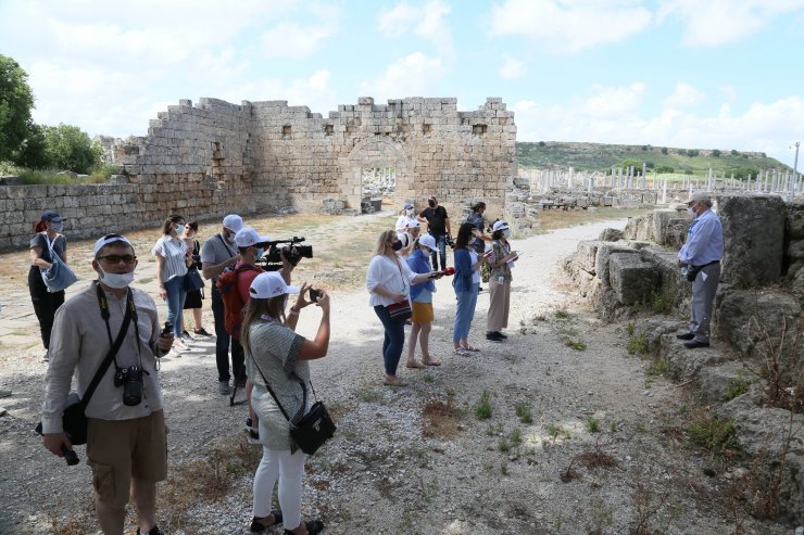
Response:
[{"label": "pale gravel ground with dry weeds beneath the visitors' feet", "polygon": [[[481,292],[470,340],[481,352],[470,357],[452,354],[454,293],[438,282],[430,345],[443,366],[407,370],[403,355],[402,388],[381,383],[382,331],[365,290],[334,291],[329,355],[312,373],[338,432],[307,461],[304,518],[322,518],[331,534],[731,534],[736,519],[742,533],[790,533],[729,505],[734,467],[674,433],[686,394],[646,377],[646,362],[625,349],[624,329],[595,319],[560,272],[578,240],[624,225],[515,241],[524,254],[508,340],[485,340]],[[0,318],[25,321],[17,313]],[[318,318],[305,309],[298,330],[312,336]],[[171,479],[161,485],[160,523],[173,534],[248,533],[260,450],[246,443],[246,409],[216,393],[214,341],[192,346],[161,372]],[[96,533],[88,467],[67,468],[32,431],[46,365],[20,347],[0,346],[0,387],[14,392],[0,402],[0,533]],[[491,415],[479,420],[483,393]],[[520,419],[527,410],[532,421]]]}]

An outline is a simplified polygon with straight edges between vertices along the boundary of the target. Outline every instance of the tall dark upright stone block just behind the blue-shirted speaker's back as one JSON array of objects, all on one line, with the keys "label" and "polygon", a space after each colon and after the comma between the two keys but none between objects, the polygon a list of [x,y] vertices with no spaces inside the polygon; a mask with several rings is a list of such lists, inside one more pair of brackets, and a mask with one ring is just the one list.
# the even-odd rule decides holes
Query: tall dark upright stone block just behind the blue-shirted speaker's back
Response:
[{"label": "tall dark upright stone block just behind the blue-shirted speaker's back", "polygon": [[724,226],[720,279],[748,285],[776,282],[784,259],[787,208],[781,198],[721,196],[717,212]]}]

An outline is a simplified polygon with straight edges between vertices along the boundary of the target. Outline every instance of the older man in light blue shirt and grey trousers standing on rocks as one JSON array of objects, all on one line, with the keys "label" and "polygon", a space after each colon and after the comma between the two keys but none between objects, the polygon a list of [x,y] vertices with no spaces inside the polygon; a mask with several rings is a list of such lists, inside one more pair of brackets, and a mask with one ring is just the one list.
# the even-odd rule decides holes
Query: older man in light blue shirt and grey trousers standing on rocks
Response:
[{"label": "older man in light blue shirt and grey trousers standing on rocks", "polygon": [[690,330],[676,335],[684,341],[688,349],[709,345],[712,305],[720,281],[723,225],[711,208],[712,199],[708,193],[696,191],[690,195],[687,209],[694,219],[687,233],[687,241],[678,252],[678,265],[687,266],[688,280],[692,280]]}]

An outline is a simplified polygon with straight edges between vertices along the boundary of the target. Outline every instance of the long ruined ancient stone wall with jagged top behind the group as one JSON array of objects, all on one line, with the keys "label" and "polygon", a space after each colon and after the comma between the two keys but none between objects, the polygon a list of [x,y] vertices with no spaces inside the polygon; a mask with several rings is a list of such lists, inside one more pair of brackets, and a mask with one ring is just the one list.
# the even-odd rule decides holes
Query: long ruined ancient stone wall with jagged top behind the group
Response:
[{"label": "long ruined ancient stone wall with jagged top behind the group", "polygon": [[435,194],[457,215],[482,199],[497,217],[516,175],[514,113],[499,98],[472,112],[451,98],[361,98],[327,117],[286,101],[181,100],[147,136],[100,141],[121,166],[113,183],[0,187],[0,250],[26,244],[45,208],[70,217],[74,237],[151,227],[172,213],[359,214],[367,167],[395,169],[394,206],[422,209]]}]

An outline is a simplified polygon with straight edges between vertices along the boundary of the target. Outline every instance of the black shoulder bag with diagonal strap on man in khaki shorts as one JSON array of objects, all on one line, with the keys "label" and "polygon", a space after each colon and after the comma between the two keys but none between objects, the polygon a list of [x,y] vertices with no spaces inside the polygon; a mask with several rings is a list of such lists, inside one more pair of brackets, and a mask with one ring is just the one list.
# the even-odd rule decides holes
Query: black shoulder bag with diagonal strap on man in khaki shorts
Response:
[{"label": "black shoulder bag with diagonal strap on man in khaki shorts", "polygon": [[[105,296],[102,295],[102,292],[103,290],[98,286],[98,297],[103,300],[103,303],[105,304]],[[98,371],[95,372],[92,381],[84,393],[84,398],[81,399],[78,397],[78,394],[75,392],[71,392],[67,397],[67,404],[64,406],[64,412],[62,415],[62,429],[73,446],[80,446],[81,444],[87,443],[87,406],[89,405],[92,394],[95,394],[95,390],[98,387],[98,384],[100,384],[103,374],[109,369],[112,360],[114,360],[114,356],[123,345],[123,340],[126,337],[126,332],[128,331],[128,324],[131,322],[131,316],[136,316],[134,307],[134,295],[131,295],[131,290],[129,289],[128,306],[126,307],[126,314],[123,317],[123,323],[121,324],[117,337],[115,339],[112,348],[109,349],[103,362],[98,367]],[[102,310],[103,308],[101,308],[101,314],[103,314]],[[42,422],[39,422],[36,425],[35,431],[40,435],[42,434]]]}]

